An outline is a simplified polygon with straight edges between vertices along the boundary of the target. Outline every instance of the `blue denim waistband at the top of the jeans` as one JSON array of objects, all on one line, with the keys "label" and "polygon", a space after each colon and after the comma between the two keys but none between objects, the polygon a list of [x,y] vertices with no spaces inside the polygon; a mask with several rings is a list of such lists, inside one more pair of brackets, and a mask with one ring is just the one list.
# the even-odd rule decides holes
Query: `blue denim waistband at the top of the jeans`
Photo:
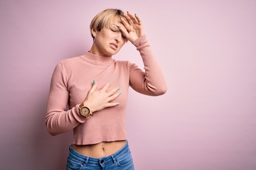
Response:
[{"label": "blue denim waistband at the top of the jeans", "polygon": [[107,156],[107,157],[101,157],[101,158],[87,157],[83,154],[76,152],[75,149],[73,149],[72,145],[70,145],[70,157],[75,157],[75,159],[78,159],[80,162],[84,162],[85,164],[91,164],[91,165],[116,163],[117,158],[122,157],[124,154],[127,154],[127,152],[129,152],[128,142],[125,143],[122,149],[119,149],[114,154],[111,154],[110,156]]}]

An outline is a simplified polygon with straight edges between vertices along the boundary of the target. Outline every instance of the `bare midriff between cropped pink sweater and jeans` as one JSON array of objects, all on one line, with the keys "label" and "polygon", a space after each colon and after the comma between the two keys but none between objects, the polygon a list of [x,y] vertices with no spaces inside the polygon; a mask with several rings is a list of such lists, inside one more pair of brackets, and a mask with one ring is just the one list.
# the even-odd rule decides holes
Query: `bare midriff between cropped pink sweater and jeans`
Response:
[{"label": "bare midriff between cropped pink sweater and jeans", "polygon": [[73,144],[73,149],[76,152],[83,154],[87,157],[107,157],[114,154],[119,149],[122,149],[126,143],[126,140],[114,141],[114,142],[100,142],[94,145],[75,145]]}]

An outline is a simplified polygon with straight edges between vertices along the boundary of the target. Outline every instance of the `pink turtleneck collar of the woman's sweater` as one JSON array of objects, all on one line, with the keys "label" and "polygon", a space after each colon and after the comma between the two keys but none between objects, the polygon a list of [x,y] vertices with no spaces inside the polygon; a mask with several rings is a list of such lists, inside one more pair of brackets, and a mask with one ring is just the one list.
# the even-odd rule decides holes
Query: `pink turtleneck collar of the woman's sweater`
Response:
[{"label": "pink turtleneck collar of the woman's sweater", "polygon": [[106,65],[110,65],[110,64],[112,64],[112,62],[114,62],[112,57],[102,57],[100,55],[94,55],[90,52],[85,52],[85,55],[81,55],[80,57],[82,58],[82,60],[85,60],[85,61],[90,62],[95,65],[106,66]]}]

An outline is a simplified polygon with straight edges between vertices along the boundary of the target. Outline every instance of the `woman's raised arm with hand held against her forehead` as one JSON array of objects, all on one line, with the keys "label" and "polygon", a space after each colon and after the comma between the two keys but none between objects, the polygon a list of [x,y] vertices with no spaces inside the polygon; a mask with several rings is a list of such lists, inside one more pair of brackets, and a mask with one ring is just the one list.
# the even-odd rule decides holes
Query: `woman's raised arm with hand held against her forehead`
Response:
[{"label": "woman's raised arm with hand held against her forehead", "polygon": [[[124,18],[126,20],[124,20]],[[119,29],[127,40],[132,42],[132,44],[137,47],[137,50],[139,50],[145,69],[145,72],[143,72],[135,64],[132,64],[129,77],[130,86],[141,94],[150,96],[165,94],[167,90],[166,81],[151,51],[146,35],[144,35],[142,21],[137,15],[132,15],[132,13],[129,12],[124,13],[124,18],[121,18],[121,22],[126,29]]]}]

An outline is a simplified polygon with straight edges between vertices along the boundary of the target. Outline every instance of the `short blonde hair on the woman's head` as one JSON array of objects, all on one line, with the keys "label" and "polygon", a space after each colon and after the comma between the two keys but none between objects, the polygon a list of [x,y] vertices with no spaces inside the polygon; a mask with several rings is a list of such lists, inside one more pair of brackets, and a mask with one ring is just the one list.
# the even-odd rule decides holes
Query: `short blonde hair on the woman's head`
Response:
[{"label": "short blonde hair on the woman's head", "polygon": [[[114,17],[124,18],[124,12],[117,8],[107,8],[92,19],[90,23],[90,31],[92,35],[92,29],[100,31],[102,28],[110,28],[110,21]],[[92,38],[94,36],[92,35]]]}]

